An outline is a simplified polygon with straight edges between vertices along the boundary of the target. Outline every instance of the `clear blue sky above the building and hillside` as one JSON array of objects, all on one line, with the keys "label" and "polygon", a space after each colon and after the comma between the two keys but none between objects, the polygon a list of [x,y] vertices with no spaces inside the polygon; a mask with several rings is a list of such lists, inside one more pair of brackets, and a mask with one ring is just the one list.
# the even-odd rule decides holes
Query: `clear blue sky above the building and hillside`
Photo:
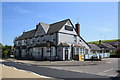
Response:
[{"label": "clear blue sky above the building and hillside", "polygon": [[86,42],[118,38],[117,2],[3,2],[2,44],[13,45],[23,31],[70,19],[80,23],[80,35]]}]

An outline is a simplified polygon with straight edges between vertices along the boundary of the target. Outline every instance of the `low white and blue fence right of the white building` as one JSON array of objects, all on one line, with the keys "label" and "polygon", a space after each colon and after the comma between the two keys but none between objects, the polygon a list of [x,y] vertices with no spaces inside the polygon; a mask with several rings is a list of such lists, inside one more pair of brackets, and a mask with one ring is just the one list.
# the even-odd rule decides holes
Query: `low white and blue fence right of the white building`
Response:
[{"label": "low white and blue fence right of the white building", "polygon": [[82,56],[84,59],[90,59],[92,56],[97,56],[98,58],[109,58],[110,53],[100,53],[100,54],[85,54]]}]

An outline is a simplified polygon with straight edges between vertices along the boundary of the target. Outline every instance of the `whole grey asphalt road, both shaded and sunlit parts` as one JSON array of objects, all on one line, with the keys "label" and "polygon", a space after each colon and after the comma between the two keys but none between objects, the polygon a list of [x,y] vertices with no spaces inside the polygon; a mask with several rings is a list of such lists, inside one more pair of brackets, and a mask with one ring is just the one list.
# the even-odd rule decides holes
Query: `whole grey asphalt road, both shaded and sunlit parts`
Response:
[{"label": "whole grey asphalt road, both shaded and sunlit parts", "polygon": [[[17,69],[31,71],[39,75],[44,75],[57,79],[66,79],[66,78],[102,78],[109,79],[113,77],[113,73],[117,75],[115,70],[118,68],[117,59],[107,59],[108,62],[106,64],[101,64],[99,62],[98,65],[88,65],[88,66],[39,66],[39,65],[30,65],[24,63],[16,63],[16,62],[3,62],[6,66],[15,67]],[[103,73],[107,75],[101,75]],[[99,73],[99,74],[95,74]],[[108,74],[110,73],[110,74]],[[109,75],[109,76],[108,76]],[[110,76],[112,75],[112,76]]]}]

